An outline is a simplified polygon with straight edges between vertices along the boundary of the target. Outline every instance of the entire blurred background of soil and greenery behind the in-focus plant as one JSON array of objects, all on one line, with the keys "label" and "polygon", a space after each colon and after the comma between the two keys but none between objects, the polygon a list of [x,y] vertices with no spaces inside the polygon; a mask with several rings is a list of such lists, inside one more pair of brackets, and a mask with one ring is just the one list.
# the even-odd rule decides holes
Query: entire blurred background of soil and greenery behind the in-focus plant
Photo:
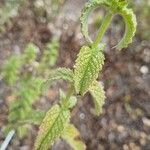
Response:
[{"label": "entire blurred background of soil and greenery behind the in-focus plant", "polygon": [[[31,150],[38,124],[58,102],[58,81],[45,92],[43,80],[56,67],[73,68],[84,44],[79,17],[86,0],[0,1],[0,145],[15,129],[8,150]],[[103,42],[105,65],[99,75],[106,103],[100,117],[93,115],[91,96],[78,100],[71,122],[87,150],[150,150],[150,1],[129,0],[137,16],[133,43],[121,52],[112,49],[124,33],[116,15]],[[105,10],[93,11],[89,33],[95,36]],[[36,122],[35,125],[32,122]],[[59,140],[53,150],[71,150]]]}]

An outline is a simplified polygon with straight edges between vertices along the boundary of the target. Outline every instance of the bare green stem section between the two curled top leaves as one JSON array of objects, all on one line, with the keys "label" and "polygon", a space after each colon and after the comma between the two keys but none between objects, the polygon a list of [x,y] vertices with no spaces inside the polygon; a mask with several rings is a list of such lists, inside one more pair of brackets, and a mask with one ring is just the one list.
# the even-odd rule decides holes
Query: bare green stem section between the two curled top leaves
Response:
[{"label": "bare green stem section between the two curled top leaves", "polygon": [[96,38],[95,38],[95,40],[94,40],[94,42],[93,42],[93,46],[94,46],[94,47],[97,47],[97,45],[99,44],[99,41],[101,41],[101,39],[102,39],[104,33],[106,32],[106,30],[107,30],[107,28],[108,28],[108,26],[109,26],[109,24],[110,24],[112,15],[113,15],[113,14],[109,12],[109,13],[105,16],[105,18],[104,18],[104,20],[103,20],[103,22],[102,22],[102,25],[101,25],[101,27],[99,28],[98,34],[96,35]]}]

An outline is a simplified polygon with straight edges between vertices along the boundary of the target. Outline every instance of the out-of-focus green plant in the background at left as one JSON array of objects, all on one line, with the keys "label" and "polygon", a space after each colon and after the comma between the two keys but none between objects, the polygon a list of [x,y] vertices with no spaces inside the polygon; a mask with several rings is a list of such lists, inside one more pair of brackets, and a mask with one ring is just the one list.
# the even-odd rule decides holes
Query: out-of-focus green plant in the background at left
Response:
[{"label": "out-of-focus green plant in the background at left", "polygon": [[[46,46],[40,62],[36,61],[38,47],[29,43],[23,54],[12,55],[4,64],[2,76],[8,86],[13,87],[11,97],[14,99],[9,103],[8,125],[4,129],[6,133],[13,128],[19,137],[23,137],[27,134],[27,123],[39,124],[45,114],[33,110],[32,105],[42,94],[41,86],[57,57],[58,42],[52,41],[47,45],[49,48]],[[51,61],[47,61],[49,59]],[[44,67],[42,72],[39,71],[41,66]],[[23,72],[22,69],[25,68],[27,70]],[[28,68],[32,68],[32,72]]]}]

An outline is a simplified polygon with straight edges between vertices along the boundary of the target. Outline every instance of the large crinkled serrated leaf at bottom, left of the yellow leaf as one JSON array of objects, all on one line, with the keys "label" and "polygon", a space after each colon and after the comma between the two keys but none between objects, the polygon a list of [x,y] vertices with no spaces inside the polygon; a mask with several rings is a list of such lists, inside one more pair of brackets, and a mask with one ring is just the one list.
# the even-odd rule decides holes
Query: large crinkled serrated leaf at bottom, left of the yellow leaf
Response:
[{"label": "large crinkled serrated leaf at bottom, left of the yellow leaf", "polygon": [[70,119],[70,112],[59,105],[53,106],[46,114],[38,132],[35,150],[46,150],[58,139]]}]

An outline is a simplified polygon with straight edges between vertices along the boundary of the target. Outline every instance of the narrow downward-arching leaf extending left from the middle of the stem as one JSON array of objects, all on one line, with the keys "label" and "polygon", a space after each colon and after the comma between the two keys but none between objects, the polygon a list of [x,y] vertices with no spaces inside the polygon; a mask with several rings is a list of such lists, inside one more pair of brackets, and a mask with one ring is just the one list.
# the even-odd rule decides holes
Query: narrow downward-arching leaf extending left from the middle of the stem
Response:
[{"label": "narrow downward-arching leaf extending left from the middle of the stem", "polygon": [[53,70],[49,75],[49,79],[43,83],[42,91],[48,89],[54,80],[59,79],[73,82],[73,71],[67,68],[58,68],[56,70]]}]

